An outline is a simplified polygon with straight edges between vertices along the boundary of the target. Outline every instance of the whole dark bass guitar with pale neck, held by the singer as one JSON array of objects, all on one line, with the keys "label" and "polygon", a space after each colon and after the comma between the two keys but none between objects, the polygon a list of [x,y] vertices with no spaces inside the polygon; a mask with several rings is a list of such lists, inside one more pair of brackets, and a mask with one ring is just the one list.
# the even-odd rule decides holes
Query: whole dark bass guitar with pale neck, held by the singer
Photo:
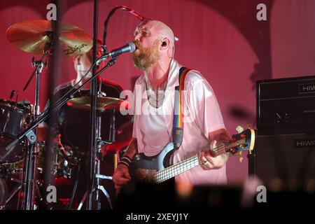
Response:
[{"label": "whole dark bass guitar with pale neck, held by the singer", "polygon": [[[213,148],[211,155],[216,157],[223,153],[232,155],[240,154],[242,151],[253,151],[255,144],[255,130],[247,129],[239,134],[232,135],[230,142],[218,144]],[[148,157],[144,153],[138,153],[132,160],[130,173],[136,181],[147,183],[162,183],[183,172],[200,165],[198,155],[183,160],[175,165],[170,165],[170,159],[174,153],[174,144],[170,142],[158,155]]]}]

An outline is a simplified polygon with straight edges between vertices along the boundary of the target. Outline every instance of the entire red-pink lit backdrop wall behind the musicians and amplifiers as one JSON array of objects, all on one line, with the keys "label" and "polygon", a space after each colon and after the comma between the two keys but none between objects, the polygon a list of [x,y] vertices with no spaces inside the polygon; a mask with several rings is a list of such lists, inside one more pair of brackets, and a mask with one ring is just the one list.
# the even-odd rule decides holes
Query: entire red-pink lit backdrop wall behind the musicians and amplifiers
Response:
[{"label": "entire red-pink lit backdrop wall behind the musicians and amplifiers", "polygon": [[[45,6],[50,1],[19,1],[0,3],[0,99],[8,99],[10,91],[18,90],[20,99],[34,103],[34,81],[26,92],[22,87],[27,82],[32,68],[32,55],[18,50],[6,39],[6,29],[25,20],[45,19]],[[66,5],[63,22],[76,25],[92,35],[92,1],[63,1]],[[221,106],[229,134],[235,127],[246,126],[246,120],[230,115],[231,106],[239,106],[255,119],[255,90],[253,80],[272,77],[268,69],[257,75],[255,64],[269,68],[272,58],[274,77],[314,73],[314,3],[311,1],[275,1],[272,13],[268,12],[267,22],[255,18],[258,1],[193,1],[193,0],[138,0],[100,1],[99,37],[102,38],[103,21],[116,5],[126,5],[148,18],[167,23],[180,41],[176,43],[175,58],[191,69],[203,73],[214,87]],[[267,1],[272,7],[273,1]],[[268,5],[269,4],[269,5]],[[313,18],[313,20],[311,20]],[[271,27],[269,30],[269,22]],[[116,12],[109,23],[107,43],[109,50],[125,45],[132,40],[134,27],[139,20],[122,10]],[[265,28],[264,28],[265,27]],[[262,31],[261,31],[262,30]],[[267,31],[264,31],[267,30]],[[269,33],[272,48],[270,52]],[[263,39],[261,37],[267,36]],[[260,41],[259,41],[260,40]],[[262,53],[263,52],[263,53]],[[266,53],[267,52],[267,53]],[[263,57],[262,57],[263,56]],[[36,56],[37,58],[39,56]],[[294,63],[292,63],[294,62]],[[60,83],[74,78],[71,58],[64,57]],[[266,72],[267,71],[267,72]],[[104,78],[132,90],[133,80],[141,72],[134,68],[130,55],[121,55],[115,66],[102,74]],[[254,77],[253,77],[254,76]],[[251,79],[250,79],[251,78]],[[43,72],[41,109],[47,99],[48,72]],[[242,163],[238,158],[228,162],[230,183],[244,180],[247,176],[247,159]]]}]

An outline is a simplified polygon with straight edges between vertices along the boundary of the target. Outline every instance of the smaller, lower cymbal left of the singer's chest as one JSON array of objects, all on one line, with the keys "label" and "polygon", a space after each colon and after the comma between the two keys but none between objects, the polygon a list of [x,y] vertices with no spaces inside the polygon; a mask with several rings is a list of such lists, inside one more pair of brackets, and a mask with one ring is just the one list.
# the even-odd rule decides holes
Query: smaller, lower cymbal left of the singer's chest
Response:
[{"label": "smaller, lower cymbal left of the singer's chest", "polygon": [[[97,110],[104,111],[106,109],[115,108],[120,109],[120,104],[125,102],[123,99],[117,99],[112,97],[97,97]],[[78,97],[70,99],[67,105],[74,109],[90,110],[91,101],[90,97]]]}]

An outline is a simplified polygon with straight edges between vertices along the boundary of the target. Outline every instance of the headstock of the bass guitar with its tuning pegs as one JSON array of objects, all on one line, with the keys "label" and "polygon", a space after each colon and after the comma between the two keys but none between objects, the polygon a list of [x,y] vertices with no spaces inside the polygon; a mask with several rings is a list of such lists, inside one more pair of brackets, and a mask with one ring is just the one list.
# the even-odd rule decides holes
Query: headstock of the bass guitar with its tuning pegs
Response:
[{"label": "headstock of the bass guitar with its tuning pegs", "polygon": [[233,134],[229,147],[227,146],[225,151],[231,153],[232,155],[241,153],[242,151],[253,151],[255,144],[255,130],[246,129],[245,131],[240,132],[239,134]]}]

